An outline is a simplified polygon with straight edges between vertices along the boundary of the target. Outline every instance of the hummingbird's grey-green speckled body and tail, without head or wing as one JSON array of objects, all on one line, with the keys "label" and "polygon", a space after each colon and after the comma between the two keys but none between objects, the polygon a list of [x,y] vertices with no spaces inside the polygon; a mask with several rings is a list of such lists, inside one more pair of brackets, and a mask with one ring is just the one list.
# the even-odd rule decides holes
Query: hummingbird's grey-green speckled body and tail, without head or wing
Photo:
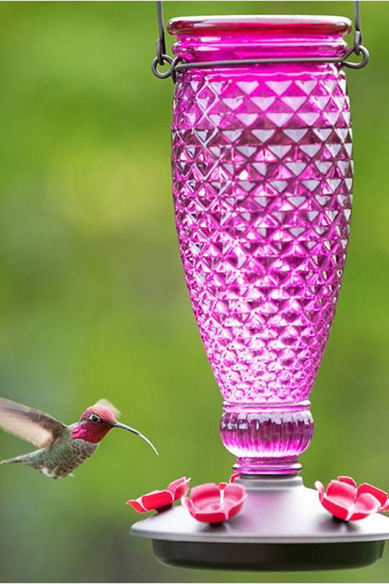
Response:
[{"label": "hummingbird's grey-green speckled body and tail, without head or wing", "polygon": [[99,443],[93,444],[72,437],[72,427],[66,427],[64,433],[49,448],[34,450],[22,456],[3,461],[5,464],[21,463],[33,467],[50,478],[65,478],[79,467],[96,451]]}]

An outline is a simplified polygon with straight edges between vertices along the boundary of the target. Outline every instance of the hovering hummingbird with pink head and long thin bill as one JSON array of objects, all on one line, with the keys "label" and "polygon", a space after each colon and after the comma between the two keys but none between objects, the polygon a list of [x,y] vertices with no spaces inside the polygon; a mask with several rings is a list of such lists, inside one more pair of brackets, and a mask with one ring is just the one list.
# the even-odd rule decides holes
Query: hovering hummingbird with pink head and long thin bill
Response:
[{"label": "hovering hummingbird with pink head and long thin bill", "polygon": [[140,436],[158,454],[141,432],[117,422],[118,415],[118,410],[107,399],[100,399],[83,412],[78,422],[66,426],[48,413],[0,398],[0,427],[39,449],[2,460],[0,464],[27,464],[47,477],[65,478],[92,456],[113,428]]}]

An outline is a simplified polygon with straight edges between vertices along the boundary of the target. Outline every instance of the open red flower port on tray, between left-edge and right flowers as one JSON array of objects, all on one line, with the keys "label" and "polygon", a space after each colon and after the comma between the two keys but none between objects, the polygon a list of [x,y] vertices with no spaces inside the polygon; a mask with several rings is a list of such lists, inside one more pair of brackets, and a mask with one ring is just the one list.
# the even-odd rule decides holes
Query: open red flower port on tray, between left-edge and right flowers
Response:
[{"label": "open red flower port on tray, between left-edge and right flowers", "polygon": [[209,482],[192,488],[190,497],[184,496],[181,503],[198,521],[223,523],[240,511],[246,496],[242,485]]}]

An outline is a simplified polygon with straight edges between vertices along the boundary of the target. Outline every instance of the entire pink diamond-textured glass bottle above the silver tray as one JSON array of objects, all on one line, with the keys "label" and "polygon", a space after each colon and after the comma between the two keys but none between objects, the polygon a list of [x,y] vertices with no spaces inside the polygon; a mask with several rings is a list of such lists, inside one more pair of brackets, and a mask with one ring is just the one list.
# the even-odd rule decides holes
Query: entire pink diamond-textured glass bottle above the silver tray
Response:
[{"label": "entire pink diamond-textured glass bottle above the silver tray", "polygon": [[[171,20],[183,62],[342,57],[346,18]],[[177,72],[172,126],[185,279],[242,474],[294,474],[311,441],[309,394],[337,307],[352,202],[341,65]]]}]

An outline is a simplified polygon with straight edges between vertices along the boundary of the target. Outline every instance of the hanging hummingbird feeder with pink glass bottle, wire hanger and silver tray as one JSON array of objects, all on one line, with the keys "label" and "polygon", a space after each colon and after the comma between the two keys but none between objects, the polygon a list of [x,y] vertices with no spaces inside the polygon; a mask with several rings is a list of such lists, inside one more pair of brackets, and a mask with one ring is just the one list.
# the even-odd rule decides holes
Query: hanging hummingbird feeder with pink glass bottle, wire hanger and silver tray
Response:
[{"label": "hanging hummingbird feeder with pink glass bottle, wire hanger and silver tray", "polygon": [[[162,3],[152,70],[175,82],[173,199],[185,280],[246,488],[228,523],[183,505],[132,526],[169,565],[330,569],[380,558],[389,519],[334,519],[299,477],[309,394],[338,303],[353,161],[345,68],[369,58],[340,16],[199,16]],[[349,61],[352,53],[359,62]],[[168,63],[169,71],[158,65]],[[343,477],[344,479],[344,477]],[[351,479],[349,479],[351,481]],[[320,484],[321,485],[321,484]],[[349,489],[354,489],[348,485]],[[356,490],[356,489],[355,489]],[[320,497],[325,496],[323,485]]]}]

